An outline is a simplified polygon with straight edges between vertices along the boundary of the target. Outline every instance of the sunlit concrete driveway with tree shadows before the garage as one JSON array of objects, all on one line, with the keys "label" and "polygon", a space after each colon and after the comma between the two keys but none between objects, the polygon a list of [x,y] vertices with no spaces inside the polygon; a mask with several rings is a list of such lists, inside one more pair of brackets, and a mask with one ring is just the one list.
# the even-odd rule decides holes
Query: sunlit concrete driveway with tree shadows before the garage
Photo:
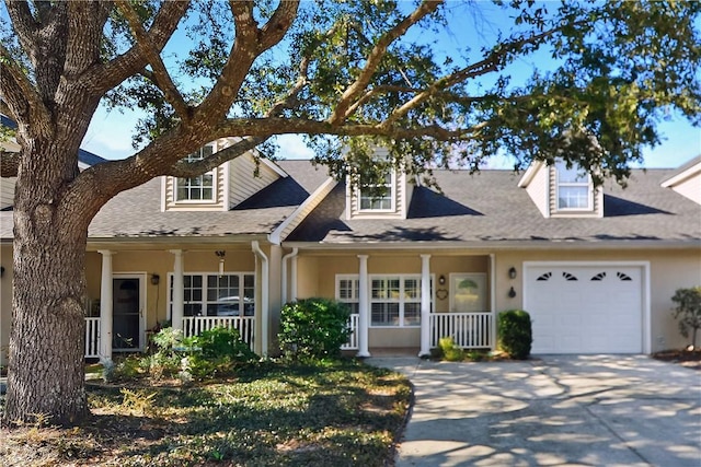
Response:
[{"label": "sunlit concrete driveway with tree shadows before the garage", "polygon": [[701,466],[701,372],[644,355],[448,363],[412,381],[397,466]]}]

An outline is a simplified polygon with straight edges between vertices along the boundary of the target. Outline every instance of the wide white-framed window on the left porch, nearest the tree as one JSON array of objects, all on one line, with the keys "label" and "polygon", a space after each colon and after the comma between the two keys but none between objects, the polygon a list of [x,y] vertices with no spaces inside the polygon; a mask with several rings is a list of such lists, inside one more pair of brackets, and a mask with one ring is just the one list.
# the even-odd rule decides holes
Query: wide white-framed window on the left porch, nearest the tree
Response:
[{"label": "wide white-framed window on the left porch, nearest the tree", "polygon": [[[173,304],[173,275],[170,275],[169,308]],[[254,316],[253,273],[184,275],[185,316]],[[243,311],[243,313],[241,313]]]}]

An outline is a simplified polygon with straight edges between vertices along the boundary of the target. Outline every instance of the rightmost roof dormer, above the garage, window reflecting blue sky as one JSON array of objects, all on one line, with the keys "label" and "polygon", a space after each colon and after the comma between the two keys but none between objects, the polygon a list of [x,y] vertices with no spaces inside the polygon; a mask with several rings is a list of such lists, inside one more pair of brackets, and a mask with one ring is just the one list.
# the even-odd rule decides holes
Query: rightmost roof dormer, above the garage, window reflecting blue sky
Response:
[{"label": "rightmost roof dormer, above the garage, window reflecting blue sky", "polygon": [[544,218],[601,218],[604,194],[583,170],[533,162],[518,183]]}]

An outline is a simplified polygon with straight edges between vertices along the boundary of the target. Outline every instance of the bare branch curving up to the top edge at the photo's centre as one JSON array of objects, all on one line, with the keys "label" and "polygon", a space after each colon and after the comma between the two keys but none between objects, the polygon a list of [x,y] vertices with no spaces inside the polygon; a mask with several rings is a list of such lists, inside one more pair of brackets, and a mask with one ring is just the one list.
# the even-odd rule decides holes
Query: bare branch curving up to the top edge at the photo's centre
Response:
[{"label": "bare branch curving up to the top edge at the photo's centre", "polygon": [[329,117],[329,124],[338,125],[348,117],[348,108],[353,104],[353,101],[355,101],[355,98],[359,96],[360,93],[363,93],[363,91],[365,91],[370,83],[370,79],[377,70],[377,67],[379,67],[380,62],[382,61],[384,54],[387,54],[388,47],[397,38],[403,36],[412,25],[416,24],[424,16],[436,11],[440,3],[443,3],[443,0],[424,1],[414,12],[404,17],[394,27],[389,30],[386,34],[382,35],[382,37],[380,37],[376,46],[370,51],[365,63],[365,68],[363,69],[360,74],[341,96],[336,108],[334,109],[331,117]]}]

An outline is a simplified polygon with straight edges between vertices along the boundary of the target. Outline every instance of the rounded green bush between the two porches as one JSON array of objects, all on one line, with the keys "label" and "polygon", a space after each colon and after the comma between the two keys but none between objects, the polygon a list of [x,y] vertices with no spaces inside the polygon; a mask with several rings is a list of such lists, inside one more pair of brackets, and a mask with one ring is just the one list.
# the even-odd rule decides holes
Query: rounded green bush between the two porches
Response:
[{"label": "rounded green bush between the two porches", "polygon": [[283,307],[279,342],[292,360],[337,358],[348,340],[348,307],[327,299],[304,299]]}]

